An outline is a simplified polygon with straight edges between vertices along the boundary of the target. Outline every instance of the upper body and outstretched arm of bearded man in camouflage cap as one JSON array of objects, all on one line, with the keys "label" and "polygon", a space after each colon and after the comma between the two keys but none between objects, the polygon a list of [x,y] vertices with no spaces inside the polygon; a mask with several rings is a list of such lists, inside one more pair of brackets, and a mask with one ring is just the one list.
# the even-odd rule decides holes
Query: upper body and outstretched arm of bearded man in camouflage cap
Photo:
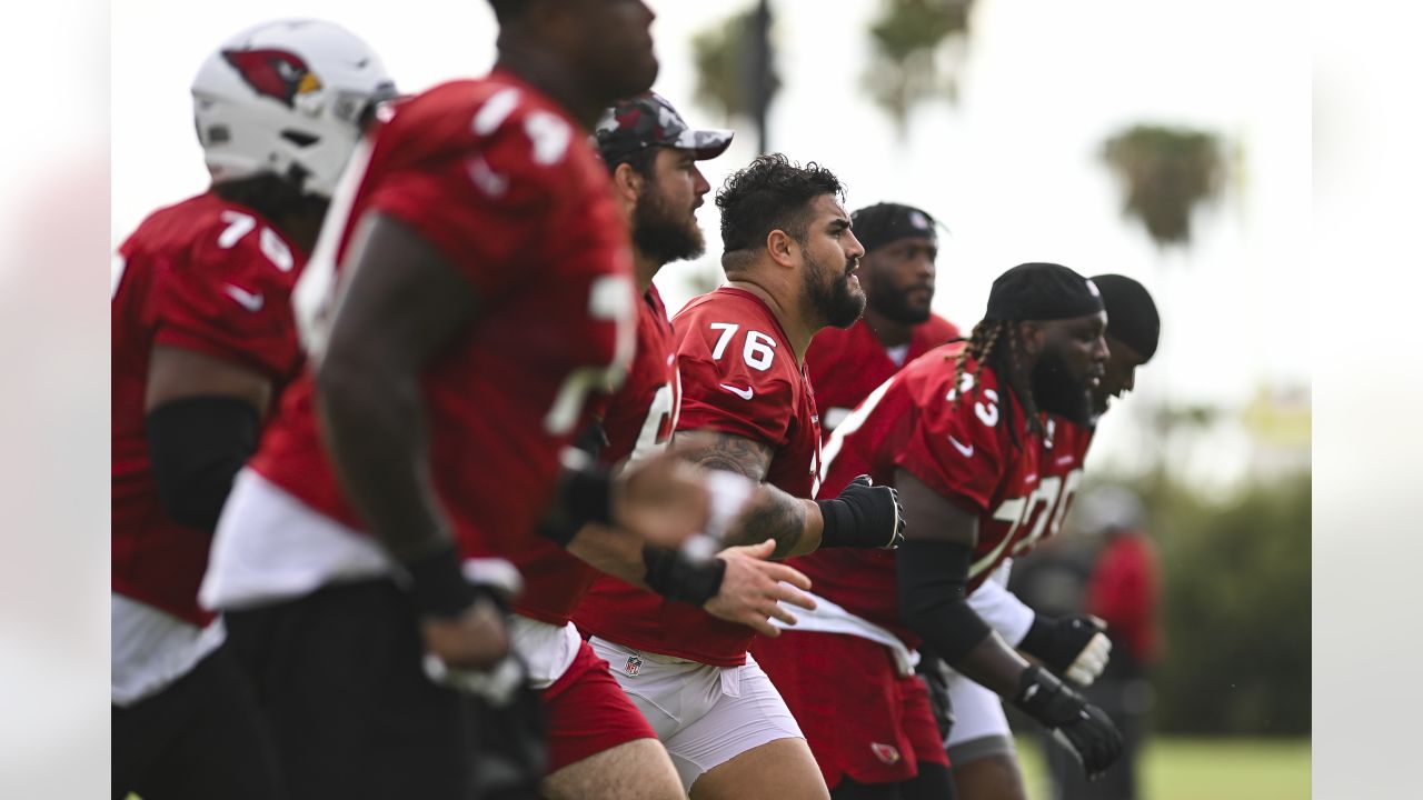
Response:
[{"label": "upper body and outstretched arm of bearded man in camouflage cap", "polygon": [[[638,349],[628,379],[602,413],[601,457],[608,464],[640,463],[672,441],[680,406],[672,322],[652,279],[663,265],[702,255],[706,242],[696,209],[710,185],[697,161],[716,158],[731,142],[731,131],[694,130],[663,97],[647,93],[609,108],[598,124],[599,154],[613,181],[633,242],[638,303]],[[766,493],[764,487],[760,493]],[[761,558],[773,541],[721,551],[720,559],[687,558],[684,551],[643,547],[613,531],[591,527],[568,545],[579,558],[619,579],[703,606],[713,616],[776,635],[768,618],[793,622],[780,602],[807,605],[804,575]],[[753,555],[753,558],[743,558]],[[729,561],[730,559],[730,561]],[[582,575],[592,575],[583,569]],[[564,595],[576,602],[586,581]]]}]

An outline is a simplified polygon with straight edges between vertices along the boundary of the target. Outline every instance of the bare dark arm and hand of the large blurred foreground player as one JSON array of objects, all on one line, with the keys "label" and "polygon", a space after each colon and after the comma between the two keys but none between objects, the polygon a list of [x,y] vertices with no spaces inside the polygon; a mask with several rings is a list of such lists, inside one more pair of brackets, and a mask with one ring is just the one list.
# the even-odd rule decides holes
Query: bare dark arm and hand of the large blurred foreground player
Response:
[{"label": "bare dark arm and hand of the large blurred foreground player", "polygon": [[[347,269],[316,373],[317,409],[346,497],[386,549],[411,562],[451,537],[430,475],[420,374],[478,317],[480,298],[434,245],[379,214],[360,222]],[[508,652],[488,604],[421,628],[451,666],[487,668]]]}]

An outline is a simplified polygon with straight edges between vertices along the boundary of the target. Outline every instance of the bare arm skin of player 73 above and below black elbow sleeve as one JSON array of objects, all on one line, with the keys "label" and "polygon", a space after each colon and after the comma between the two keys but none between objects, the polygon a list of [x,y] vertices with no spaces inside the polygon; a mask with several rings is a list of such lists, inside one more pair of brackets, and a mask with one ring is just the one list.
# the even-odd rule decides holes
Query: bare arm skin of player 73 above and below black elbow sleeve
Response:
[{"label": "bare arm skin of player 73 above and below black elbow sleeve", "polygon": [[[905,470],[895,471],[895,488],[899,490],[905,518],[914,520],[905,530],[906,540],[949,541],[969,548],[978,544],[976,511],[956,505]],[[998,695],[1012,698],[1017,693],[1019,676],[1029,665],[1002,636],[990,631],[963,659],[951,666]]]}]

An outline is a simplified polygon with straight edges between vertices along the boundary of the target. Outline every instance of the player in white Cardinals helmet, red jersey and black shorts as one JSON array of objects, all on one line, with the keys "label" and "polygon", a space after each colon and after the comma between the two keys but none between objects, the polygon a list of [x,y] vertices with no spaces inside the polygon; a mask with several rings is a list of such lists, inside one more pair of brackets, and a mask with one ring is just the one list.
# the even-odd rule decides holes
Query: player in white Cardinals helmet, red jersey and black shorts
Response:
[{"label": "player in white Cardinals helmet, red jersey and black shorts", "polygon": [[232,478],[302,359],[289,296],[394,87],[339,26],[225,41],[194,80],[212,186],[122,243],[112,296],[112,790],[277,794],[250,689],[198,606]]}]

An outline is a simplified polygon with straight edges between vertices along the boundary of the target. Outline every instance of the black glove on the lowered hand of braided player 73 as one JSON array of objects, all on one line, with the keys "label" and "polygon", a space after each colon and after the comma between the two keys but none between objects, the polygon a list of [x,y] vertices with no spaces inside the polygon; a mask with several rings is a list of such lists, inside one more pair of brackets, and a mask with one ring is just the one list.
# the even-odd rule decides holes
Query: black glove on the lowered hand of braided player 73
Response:
[{"label": "black glove on the lowered hand of braided player 73", "polygon": [[1101,776],[1121,754],[1121,732],[1111,719],[1053,673],[1029,666],[1017,685],[1013,705],[1050,730],[1077,759],[1089,780]]}]

